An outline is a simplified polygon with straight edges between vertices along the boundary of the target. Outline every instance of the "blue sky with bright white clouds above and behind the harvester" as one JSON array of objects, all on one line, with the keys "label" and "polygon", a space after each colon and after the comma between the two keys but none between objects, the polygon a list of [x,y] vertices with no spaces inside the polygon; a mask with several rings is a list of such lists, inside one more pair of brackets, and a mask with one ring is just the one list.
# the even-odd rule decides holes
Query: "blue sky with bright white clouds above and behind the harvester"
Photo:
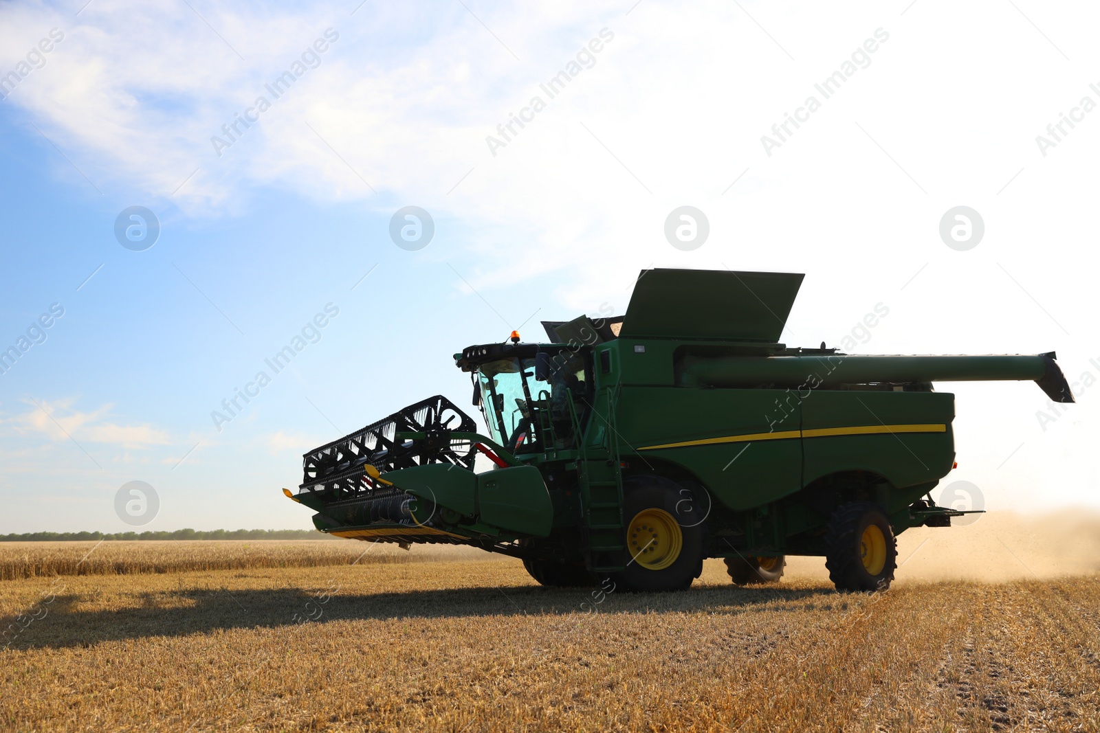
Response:
[{"label": "blue sky with bright white clouds above and behind the harvester", "polygon": [[302,453],[473,412],[452,354],[622,313],[650,267],[804,273],[789,345],[1057,352],[1077,404],[937,385],[943,486],[1098,508],[1098,12],[2,2],[0,533],[139,529],[131,481],[140,529],[309,527]]}]

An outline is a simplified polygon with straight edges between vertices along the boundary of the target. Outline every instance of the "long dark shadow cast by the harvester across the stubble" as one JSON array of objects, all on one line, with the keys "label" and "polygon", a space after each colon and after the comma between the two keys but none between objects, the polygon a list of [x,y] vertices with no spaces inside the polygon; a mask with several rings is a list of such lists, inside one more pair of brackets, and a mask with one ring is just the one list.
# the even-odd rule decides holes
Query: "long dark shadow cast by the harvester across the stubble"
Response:
[{"label": "long dark shadow cast by the harvester across the stubble", "polygon": [[[695,586],[671,593],[612,592],[539,586],[479,587],[351,595],[336,590],[184,589],[138,593],[141,607],[81,610],[91,599],[58,596],[44,618],[0,619],[15,649],[90,646],[105,641],[183,636],[218,630],[278,628],[340,620],[448,619],[491,615],[570,615],[586,613],[671,613],[704,611],[738,614],[763,610],[796,611],[842,607],[832,588],[750,588]],[[25,628],[21,628],[25,624]],[[21,629],[21,630],[20,630]],[[18,631],[16,633],[16,630]],[[13,635],[12,635],[13,634]]]}]

